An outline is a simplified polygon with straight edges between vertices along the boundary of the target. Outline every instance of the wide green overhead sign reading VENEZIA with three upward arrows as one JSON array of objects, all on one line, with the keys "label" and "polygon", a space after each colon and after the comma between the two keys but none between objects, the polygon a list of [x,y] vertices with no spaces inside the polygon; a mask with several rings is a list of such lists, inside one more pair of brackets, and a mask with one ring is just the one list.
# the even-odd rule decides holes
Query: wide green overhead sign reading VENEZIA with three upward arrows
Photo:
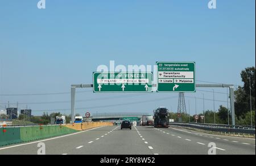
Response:
[{"label": "wide green overhead sign reading VENEZIA with three upward arrows", "polygon": [[93,73],[93,92],[152,92],[152,73]]}]

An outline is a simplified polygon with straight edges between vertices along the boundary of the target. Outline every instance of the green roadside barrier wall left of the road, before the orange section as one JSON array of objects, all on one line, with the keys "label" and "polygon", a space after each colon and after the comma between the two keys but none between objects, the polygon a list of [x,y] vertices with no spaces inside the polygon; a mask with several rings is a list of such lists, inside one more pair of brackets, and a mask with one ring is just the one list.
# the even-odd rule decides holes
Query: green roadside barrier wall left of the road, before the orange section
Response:
[{"label": "green roadside barrier wall left of the road, before the orange section", "polygon": [[35,141],[58,135],[75,133],[76,130],[69,129],[65,126],[28,126],[28,127],[5,127],[0,128],[0,146],[5,146],[14,143]]}]

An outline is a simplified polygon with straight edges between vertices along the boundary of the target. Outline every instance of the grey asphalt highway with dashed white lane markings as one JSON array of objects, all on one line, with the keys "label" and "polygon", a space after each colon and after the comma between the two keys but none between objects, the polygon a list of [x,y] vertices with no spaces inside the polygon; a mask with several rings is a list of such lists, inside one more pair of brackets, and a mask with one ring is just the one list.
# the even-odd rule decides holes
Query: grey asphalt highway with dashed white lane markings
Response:
[{"label": "grey asphalt highway with dashed white lane markings", "polygon": [[255,155],[255,139],[212,135],[176,127],[103,126],[41,141],[0,147],[0,155],[36,155],[38,143],[47,155],[208,155],[209,143],[217,155]]}]

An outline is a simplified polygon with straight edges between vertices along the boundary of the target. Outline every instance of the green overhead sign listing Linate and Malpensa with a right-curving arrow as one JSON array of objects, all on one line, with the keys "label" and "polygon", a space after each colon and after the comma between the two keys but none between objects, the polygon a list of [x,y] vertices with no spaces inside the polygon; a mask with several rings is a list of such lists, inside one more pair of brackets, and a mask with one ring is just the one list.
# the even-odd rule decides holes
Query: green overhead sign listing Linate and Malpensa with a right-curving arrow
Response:
[{"label": "green overhead sign listing Linate and Malpensa with a right-curving arrow", "polygon": [[195,62],[156,62],[157,92],[196,92]]}]

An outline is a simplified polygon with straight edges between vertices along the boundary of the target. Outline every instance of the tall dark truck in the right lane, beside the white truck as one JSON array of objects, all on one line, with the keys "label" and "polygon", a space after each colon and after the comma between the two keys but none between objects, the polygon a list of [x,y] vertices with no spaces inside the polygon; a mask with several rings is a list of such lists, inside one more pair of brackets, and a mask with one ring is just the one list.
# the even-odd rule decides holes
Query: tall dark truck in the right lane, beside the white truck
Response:
[{"label": "tall dark truck in the right lane, beside the white truck", "polygon": [[154,127],[169,127],[169,111],[165,107],[154,110]]}]

